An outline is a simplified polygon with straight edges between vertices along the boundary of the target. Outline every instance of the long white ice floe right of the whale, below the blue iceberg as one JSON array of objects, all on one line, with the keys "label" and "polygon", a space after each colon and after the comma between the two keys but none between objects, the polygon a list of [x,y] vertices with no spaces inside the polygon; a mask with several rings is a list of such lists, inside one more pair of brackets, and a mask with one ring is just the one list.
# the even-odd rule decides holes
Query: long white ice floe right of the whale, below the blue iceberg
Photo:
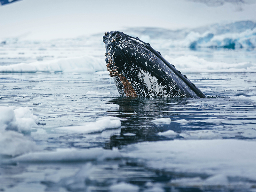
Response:
[{"label": "long white ice floe right of the whale, below the blue iceberg", "polygon": [[212,62],[200,59],[196,56],[188,55],[178,58],[164,57],[169,63],[173,64],[175,68],[182,71],[182,73],[219,73],[219,72],[256,72],[256,63],[224,63]]}]

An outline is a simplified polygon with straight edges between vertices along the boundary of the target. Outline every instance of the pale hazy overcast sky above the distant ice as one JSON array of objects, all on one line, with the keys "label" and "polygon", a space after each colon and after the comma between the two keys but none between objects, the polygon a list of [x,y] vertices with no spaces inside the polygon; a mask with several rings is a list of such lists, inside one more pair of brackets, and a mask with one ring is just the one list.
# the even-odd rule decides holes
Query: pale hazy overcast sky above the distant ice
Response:
[{"label": "pale hazy overcast sky above the distant ice", "polygon": [[223,1],[220,6],[209,6],[203,0],[22,0],[0,6],[0,39],[18,36],[43,40],[125,27],[178,29],[256,20],[255,1]]}]

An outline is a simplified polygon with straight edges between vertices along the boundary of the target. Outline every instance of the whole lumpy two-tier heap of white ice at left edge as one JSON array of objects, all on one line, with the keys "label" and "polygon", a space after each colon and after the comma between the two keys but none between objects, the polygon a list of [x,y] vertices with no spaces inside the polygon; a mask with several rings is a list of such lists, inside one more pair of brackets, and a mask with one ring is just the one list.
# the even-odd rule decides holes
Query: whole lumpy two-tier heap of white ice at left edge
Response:
[{"label": "whole lumpy two-tier heap of white ice at left edge", "polygon": [[35,142],[19,132],[29,133],[38,123],[28,107],[0,106],[0,154],[17,156],[36,150]]}]

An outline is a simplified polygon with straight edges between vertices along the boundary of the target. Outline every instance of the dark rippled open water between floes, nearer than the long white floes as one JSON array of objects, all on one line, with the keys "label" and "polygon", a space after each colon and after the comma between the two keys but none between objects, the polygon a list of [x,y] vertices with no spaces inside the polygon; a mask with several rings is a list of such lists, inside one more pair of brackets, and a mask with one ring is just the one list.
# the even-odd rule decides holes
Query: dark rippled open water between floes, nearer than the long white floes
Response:
[{"label": "dark rippled open water between floes, nearer than the long white floes", "polygon": [[[256,102],[230,99],[232,95],[236,98],[256,95],[255,73],[186,75],[207,98],[121,98],[107,74],[2,73],[0,105],[29,107],[39,118],[40,124],[39,128],[25,135],[46,151],[95,147],[123,150],[130,144],[163,140],[255,141]],[[102,95],[88,95],[88,91]],[[27,100],[20,100],[24,98]],[[119,107],[102,107],[109,103]],[[91,134],[66,133],[56,129],[94,122],[104,116],[121,118],[121,127]],[[168,117],[172,120],[170,124],[152,122],[156,118]],[[177,134],[171,137],[158,134],[168,130]],[[204,171],[180,173],[154,169],[146,166],[140,159],[128,157],[90,162],[3,163],[0,164],[0,189],[124,191],[118,189],[118,184],[123,184],[124,187],[121,188],[127,188],[127,191],[253,191],[253,186],[256,186],[256,180],[241,180],[240,188],[232,185],[173,185],[171,182],[177,178],[198,176],[205,179],[209,174]]]}]

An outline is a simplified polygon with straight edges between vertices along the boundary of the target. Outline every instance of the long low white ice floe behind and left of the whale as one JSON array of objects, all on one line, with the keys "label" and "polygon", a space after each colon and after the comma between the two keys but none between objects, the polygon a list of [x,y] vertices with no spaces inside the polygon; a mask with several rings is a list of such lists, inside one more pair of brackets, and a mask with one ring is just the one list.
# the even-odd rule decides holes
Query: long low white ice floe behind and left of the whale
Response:
[{"label": "long low white ice floe behind and left of the whale", "polygon": [[0,72],[65,72],[93,73],[107,70],[105,61],[96,57],[84,56],[62,58],[50,61],[18,63],[0,66]]}]

